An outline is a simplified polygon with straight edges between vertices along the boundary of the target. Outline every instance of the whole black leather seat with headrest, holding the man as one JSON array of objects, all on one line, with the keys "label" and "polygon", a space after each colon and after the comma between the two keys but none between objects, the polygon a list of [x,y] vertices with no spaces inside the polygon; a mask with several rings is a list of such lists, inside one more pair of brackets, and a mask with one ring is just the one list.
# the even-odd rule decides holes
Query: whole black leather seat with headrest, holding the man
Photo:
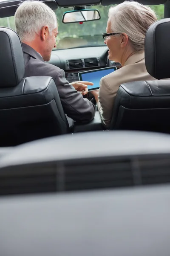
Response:
[{"label": "whole black leather seat with headrest, holding the man", "polygon": [[69,132],[56,85],[51,77],[24,77],[20,38],[0,27],[0,146]]}]

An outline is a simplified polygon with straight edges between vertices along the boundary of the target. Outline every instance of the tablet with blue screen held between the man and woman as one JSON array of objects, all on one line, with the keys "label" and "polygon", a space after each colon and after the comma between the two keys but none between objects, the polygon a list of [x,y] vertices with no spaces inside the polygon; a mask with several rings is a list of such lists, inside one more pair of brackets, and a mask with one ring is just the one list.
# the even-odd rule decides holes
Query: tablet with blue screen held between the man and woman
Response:
[{"label": "tablet with blue screen held between the man and woman", "polygon": [[99,68],[97,70],[88,70],[84,72],[79,72],[78,76],[80,81],[89,81],[94,83],[94,85],[92,86],[88,85],[88,91],[92,91],[92,90],[99,89],[100,79],[103,76],[106,76],[115,70],[117,70],[116,67],[105,67],[105,68]]}]

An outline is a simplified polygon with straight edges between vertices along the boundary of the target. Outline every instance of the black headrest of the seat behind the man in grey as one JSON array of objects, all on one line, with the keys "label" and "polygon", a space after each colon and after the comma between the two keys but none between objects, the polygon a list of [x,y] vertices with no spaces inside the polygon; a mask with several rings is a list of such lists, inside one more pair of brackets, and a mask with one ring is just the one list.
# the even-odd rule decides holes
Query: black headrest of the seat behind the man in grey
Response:
[{"label": "black headrest of the seat behind the man in grey", "polygon": [[21,41],[12,29],[0,27],[0,87],[14,87],[25,72]]}]

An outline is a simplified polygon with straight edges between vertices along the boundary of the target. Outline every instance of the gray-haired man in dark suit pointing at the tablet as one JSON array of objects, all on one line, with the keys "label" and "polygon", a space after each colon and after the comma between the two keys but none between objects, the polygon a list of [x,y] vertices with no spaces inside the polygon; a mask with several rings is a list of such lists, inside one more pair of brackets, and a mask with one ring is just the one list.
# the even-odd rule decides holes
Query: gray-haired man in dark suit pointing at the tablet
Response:
[{"label": "gray-haired man in dark suit pointing at the tablet", "polygon": [[95,106],[81,95],[85,95],[88,92],[87,85],[93,83],[81,81],[69,84],[64,70],[45,63],[50,60],[51,51],[56,47],[58,34],[57,17],[52,9],[39,1],[24,1],[15,13],[15,26],[23,45],[24,76],[51,76],[65,114],[81,122],[93,119]]}]

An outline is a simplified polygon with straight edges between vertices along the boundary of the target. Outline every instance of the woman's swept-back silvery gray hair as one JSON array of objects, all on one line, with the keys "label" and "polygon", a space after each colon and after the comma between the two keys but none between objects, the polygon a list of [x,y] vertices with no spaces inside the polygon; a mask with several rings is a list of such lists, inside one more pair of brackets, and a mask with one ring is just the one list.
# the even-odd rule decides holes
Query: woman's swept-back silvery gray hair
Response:
[{"label": "woman's swept-back silvery gray hair", "polygon": [[144,51],[144,38],[149,26],[157,20],[155,12],[149,6],[136,1],[125,1],[109,9],[111,30],[114,33],[126,33],[135,52]]}]

